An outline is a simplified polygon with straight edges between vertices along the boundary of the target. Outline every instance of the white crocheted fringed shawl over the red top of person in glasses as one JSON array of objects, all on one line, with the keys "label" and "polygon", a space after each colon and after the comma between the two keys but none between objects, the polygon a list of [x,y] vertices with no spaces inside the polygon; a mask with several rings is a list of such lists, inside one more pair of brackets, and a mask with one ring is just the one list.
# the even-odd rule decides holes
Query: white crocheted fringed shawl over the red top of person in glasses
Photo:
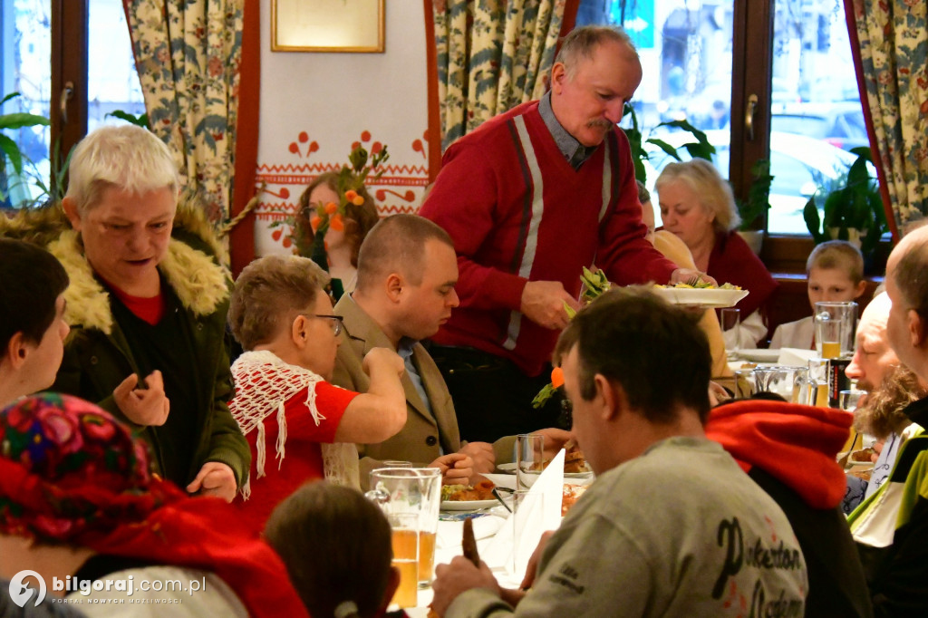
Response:
[{"label": "white crocheted fringed shawl over the red top of person in glasses", "polygon": [[[309,369],[285,363],[277,354],[267,350],[240,355],[232,364],[232,377],[235,379],[236,396],[229,404],[229,410],[242,433],[258,432],[254,466],[260,479],[265,474],[264,418],[277,414],[277,470],[280,470],[287,443],[285,403],[304,388],[312,387],[306,390],[306,409],[318,426],[326,418],[316,407],[316,384],[324,380]],[[319,445],[326,480],[360,489],[357,447],[349,443]],[[246,500],[251,496],[251,471],[241,493]]]}]

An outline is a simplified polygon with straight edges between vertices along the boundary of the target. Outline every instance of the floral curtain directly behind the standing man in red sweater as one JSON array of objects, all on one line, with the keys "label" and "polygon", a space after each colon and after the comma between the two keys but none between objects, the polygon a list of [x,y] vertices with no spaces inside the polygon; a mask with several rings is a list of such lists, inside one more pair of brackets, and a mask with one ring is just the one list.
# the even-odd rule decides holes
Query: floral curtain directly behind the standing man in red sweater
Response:
[{"label": "floral curtain directly behind the standing man in red sweater", "polygon": [[433,0],[442,150],[545,94],[566,0]]}]

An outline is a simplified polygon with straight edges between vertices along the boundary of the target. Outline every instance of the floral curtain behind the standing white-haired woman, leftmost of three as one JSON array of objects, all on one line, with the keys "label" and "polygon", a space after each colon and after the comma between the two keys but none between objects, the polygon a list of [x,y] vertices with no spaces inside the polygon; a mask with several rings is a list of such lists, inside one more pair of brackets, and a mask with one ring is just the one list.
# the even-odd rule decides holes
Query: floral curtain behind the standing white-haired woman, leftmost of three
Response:
[{"label": "floral curtain behind the standing white-haired woman, leftmost of three", "polygon": [[151,130],[213,223],[232,201],[244,0],[122,0]]}]

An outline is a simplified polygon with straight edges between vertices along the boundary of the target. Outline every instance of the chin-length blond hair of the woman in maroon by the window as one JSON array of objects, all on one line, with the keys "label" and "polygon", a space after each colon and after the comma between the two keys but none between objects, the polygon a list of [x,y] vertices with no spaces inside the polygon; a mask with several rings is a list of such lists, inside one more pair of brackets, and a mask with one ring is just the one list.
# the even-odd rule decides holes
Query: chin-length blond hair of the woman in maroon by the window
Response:
[{"label": "chin-length blond hair of the woman in maroon by the window", "polygon": [[692,159],[682,163],[668,163],[657,177],[654,188],[660,193],[661,187],[677,181],[690,187],[702,208],[715,213],[712,225],[716,232],[724,234],[741,225],[731,187],[711,162]]}]

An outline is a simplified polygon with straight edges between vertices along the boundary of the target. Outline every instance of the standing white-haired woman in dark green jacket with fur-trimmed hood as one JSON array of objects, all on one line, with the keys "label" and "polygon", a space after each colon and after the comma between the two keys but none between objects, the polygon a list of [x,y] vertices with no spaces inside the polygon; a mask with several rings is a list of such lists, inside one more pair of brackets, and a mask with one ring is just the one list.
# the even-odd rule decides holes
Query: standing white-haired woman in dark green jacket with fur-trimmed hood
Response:
[{"label": "standing white-haired woman in dark green jacket with fur-trimmed hood", "polygon": [[199,209],[178,208],[174,157],[140,127],[87,135],[69,174],[63,213],[6,224],[47,245],[71,279],[71,336],[52,388],[130,423],[162,477],[230,501],[251,455],[226,406],[231,282],[212,228]]}]

